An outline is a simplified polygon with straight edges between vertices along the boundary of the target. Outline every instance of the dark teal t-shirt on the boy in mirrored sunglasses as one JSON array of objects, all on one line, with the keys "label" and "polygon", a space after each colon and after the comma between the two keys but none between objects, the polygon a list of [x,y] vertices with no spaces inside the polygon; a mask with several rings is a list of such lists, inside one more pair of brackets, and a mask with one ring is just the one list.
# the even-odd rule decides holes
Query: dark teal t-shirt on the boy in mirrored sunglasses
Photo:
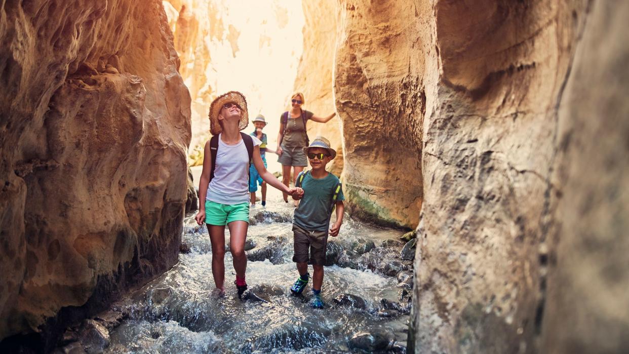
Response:
[{"label": "dark teal t-shirt on the boy in mirrored sunglasses", "polygon": [[[304,175],[301,187],[304,197],[295,209],[293,223],[311,231],[328,230],[330,223],[331,200],[337,187],[338,177],[328,173],[321,179],[313,178],[308,173]],[[344,201],[343,189],[338,192],[337,201]]]}]

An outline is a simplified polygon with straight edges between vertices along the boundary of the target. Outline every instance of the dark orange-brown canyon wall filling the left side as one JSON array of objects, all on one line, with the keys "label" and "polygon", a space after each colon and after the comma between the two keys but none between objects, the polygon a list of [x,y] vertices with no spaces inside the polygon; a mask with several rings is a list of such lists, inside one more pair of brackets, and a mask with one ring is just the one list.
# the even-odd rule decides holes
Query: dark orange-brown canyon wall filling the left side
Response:
[{"label": "dark orange-brown canyon wall filling the left side", "polygon": [[157,0],[4,2],[0,38],[5,338],[176,262],[190,98]]}]

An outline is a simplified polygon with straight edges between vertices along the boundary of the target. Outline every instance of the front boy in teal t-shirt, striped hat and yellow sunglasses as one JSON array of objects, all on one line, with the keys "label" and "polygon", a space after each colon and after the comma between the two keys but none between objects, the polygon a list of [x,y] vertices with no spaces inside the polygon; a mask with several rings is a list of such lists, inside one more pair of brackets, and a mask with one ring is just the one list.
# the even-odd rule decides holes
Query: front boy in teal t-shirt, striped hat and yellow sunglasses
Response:
[{"label": "front boy in teal t-shirt, striped hat and yellow sunglasses", "polygon": [[[293,262],[297,263],[299,278],[292,285],[293,294],[299,295],[308,284],[308,262],[313,265],[313,307],[323,307],[321,285],[323,285],[323,265],[328,245],[328,233],[338,236],[343,223],[343,191],[338,177],[325,170],[325,166],[337,152],[330,148],[330,141],[318,136],[309,147],[304,147],[311,170],[301,172],[296,187],[304,190],[304,196],[295,209],[292,222],[294,235]],[[330,226],[333,207],[337,209],[337,221]],[[328,231],[328,228],[330,230]],[[309,254],[308,254],[309,250]]]}]

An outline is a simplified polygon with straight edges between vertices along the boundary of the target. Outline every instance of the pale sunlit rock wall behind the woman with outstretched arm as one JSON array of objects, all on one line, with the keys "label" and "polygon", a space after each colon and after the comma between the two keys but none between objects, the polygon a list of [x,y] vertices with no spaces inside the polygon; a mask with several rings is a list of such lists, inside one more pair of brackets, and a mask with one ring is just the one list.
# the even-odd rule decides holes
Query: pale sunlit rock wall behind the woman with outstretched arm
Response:
[{"label": "pale sunlit rock wall behind the woman with outstretched arm", "polygon": [[[299,61],[295,92],[304,94],[304,109],[317,116],[327,116],[335,111],[332,95],[332,69],[337,44],[337,1],[303,1],[304,52]],[[340,176],[343,172],[343,145],[340,119],[335,116],[326,124],[309,122],[308,137],[325,136],[337,157],[328,164],[328,171]]]}]

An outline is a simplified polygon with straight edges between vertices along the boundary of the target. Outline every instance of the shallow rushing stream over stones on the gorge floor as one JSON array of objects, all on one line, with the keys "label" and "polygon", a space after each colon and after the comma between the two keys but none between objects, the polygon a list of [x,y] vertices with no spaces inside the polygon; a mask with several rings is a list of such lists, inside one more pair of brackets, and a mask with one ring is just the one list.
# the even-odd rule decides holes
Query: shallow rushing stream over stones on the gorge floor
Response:
[{"label": "shallow rushing stream over stones on the gorge floor", "polygon": [[304,297],[289,290],[298,276],[291,260],[292,204],[277,193],[269,199],[265,209],[250,213],[247,300],[237,297],[229,252],[226,293],[217,294],[208,233],[190,214],[182,235],[189,252],[115,305],[126,316],[111,331],[106,353],[404,353],[413,270],[401,257],[408,248],[401,232],[346,216],[340,235],[328,243],[326,306],[313,309],[311,284]]}]

